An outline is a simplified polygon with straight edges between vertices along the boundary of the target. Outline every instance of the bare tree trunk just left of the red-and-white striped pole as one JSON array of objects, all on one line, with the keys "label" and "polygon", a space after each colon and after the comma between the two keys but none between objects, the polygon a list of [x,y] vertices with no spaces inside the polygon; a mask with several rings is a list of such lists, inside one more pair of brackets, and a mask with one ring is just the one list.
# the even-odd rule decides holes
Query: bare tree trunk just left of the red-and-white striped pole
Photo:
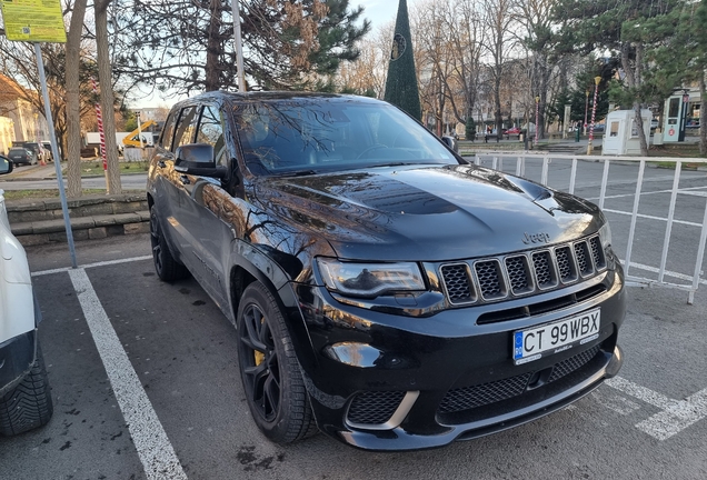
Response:
[{"label": "bare tree trunk just left of the red-and-white striped pole", "polygon": [[118,163],[118,146],[116,144],[116,119],[113,110],[112,70],[108,46],[108,6],[110,0],[96,2],[96,50],[98,57],[98,79],[101,88],[101,113],[103,132],[106,133],[106,158],[108,161],[109,194],[121,193],[120,164]]}]

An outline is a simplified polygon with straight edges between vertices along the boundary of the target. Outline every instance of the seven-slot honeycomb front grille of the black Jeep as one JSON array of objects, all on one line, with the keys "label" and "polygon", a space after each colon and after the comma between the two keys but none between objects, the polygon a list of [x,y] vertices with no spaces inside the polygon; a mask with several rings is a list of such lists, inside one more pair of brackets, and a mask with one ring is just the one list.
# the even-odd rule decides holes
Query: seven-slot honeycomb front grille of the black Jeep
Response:
[{"label": "seven-slot honeycomb front grille of the black Jeep", "polygon": [[606,268],[599,237],[593,236],[512,256],[447,263],[440,272],[450,303],[462,306],[552,290]]}]

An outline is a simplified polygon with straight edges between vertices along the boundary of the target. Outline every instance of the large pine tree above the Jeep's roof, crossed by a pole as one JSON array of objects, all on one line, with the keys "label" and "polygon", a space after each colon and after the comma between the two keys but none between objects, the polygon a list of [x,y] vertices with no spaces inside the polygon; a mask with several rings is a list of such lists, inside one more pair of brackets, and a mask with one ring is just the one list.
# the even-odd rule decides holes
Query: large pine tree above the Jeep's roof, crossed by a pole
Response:
[{"label": "large pine tree above the Jeep's roof, crossed by a pole", "polygon": [[[237,84],[227,0],[112,0],[113,71],[159,91],[191,94]],[[368,32],[349,0],[243,0],[243,69],[249,90],[311,90],[359,57]]]}]

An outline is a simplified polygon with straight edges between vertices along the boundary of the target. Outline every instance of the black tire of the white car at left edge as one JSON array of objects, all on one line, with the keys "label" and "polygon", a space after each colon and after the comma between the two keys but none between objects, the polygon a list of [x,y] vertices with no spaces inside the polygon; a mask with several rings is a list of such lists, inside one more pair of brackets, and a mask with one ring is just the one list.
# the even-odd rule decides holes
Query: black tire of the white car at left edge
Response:
[{"label": "black tire of the white car at left edge", "polygon": [[44,359],[38,343],[37,360],[30,372],[0,398],[0,434],[11,437],[42,427],[53,411]]}]

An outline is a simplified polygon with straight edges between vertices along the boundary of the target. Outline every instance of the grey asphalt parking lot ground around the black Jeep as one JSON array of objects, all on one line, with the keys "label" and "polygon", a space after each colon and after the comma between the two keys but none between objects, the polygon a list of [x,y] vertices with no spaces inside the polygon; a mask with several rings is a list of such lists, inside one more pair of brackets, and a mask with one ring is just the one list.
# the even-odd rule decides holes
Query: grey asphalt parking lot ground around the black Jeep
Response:
[{"label": "grey asphalt parking lot ground around the black Jeep", "polygon": [[[633,201],[618,180],[609,208]],[[661,191],[669,172],[654,180]],[[686,181],[707,183],[704,172]],[[578,187],[594,197],[591,182]],[[648,260],[651,229],[641,233]],[[689,267],[680,246],[695,248],[683,237],[676,270]],[[54,416],[0,438],[2,479],[707,478],[704,287],[693,306],[684,291],[631,288],[624,369],[571,407],[442,449],[371,453],[323,434],[288,447],[266,440],[249,418],[232,326],[193,280],[159,281],[148,236],[77,242],[77,254],[71,270],[66,244],[28,248]]]}]

